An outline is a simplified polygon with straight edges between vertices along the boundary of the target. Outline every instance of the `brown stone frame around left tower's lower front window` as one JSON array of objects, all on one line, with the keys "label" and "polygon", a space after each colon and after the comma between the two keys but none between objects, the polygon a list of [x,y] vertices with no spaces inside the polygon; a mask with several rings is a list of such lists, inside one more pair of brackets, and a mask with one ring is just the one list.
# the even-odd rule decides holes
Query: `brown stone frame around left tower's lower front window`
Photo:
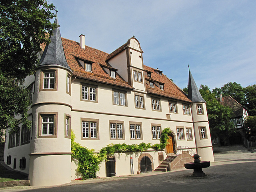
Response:
[{"label": "brown stone frame around left tower's lower front window", "polygon": [[[54,116],[53,135],[42,134],[42,117]],[[58,133],[58,112],[40,112],[38,113],[38,138],[57,138]]]}]

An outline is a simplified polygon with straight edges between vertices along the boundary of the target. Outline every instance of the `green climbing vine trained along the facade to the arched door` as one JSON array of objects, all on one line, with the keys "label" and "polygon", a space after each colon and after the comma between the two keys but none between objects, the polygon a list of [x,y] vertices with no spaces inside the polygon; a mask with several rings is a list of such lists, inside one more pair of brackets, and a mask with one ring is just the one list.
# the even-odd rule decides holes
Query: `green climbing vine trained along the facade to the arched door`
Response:
[{"label": "green climbing vine trained along the facade to the arched door", "polygon": [[100,150],[97,154],[93,149],[81,146],[79,143],[74,142],[75,134],[71,130],[71,152],[72,157],[78,160],[77,170],[82,174],[82,178],[95,178],[96,173],[99,171],[99,165],[102,160],[107,160],[107,155],[118,152],[143,152],[152,148],[154,150],[163,150],[166,147],[168,135],[172,131],[170,128],[164,128],[161,133],[160,144],[140,143],[127,145],[123,144],[108,144]]}]

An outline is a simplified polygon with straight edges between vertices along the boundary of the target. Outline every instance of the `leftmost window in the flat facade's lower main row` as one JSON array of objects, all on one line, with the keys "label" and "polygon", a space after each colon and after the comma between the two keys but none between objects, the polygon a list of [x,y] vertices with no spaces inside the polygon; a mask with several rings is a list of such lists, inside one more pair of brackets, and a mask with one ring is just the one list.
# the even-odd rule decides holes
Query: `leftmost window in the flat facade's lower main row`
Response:
[{"label": "leftmost window in the flat facade's lower main row", "polygon": [[98,134],[98,119],[87,119],[87,118],[81,118],[82,120],[82,135],[81,139],[99,139]]}]

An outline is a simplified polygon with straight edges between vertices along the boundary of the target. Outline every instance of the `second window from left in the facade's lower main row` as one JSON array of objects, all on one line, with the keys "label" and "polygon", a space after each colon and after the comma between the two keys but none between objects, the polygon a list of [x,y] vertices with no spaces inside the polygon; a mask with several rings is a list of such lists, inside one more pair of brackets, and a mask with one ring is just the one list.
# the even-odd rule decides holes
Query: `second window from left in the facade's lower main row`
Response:
[{"label": "second window from left in the facade's lower main row", "polygon": [[124,122],[110,121],[110,139],[124,139]]}]

